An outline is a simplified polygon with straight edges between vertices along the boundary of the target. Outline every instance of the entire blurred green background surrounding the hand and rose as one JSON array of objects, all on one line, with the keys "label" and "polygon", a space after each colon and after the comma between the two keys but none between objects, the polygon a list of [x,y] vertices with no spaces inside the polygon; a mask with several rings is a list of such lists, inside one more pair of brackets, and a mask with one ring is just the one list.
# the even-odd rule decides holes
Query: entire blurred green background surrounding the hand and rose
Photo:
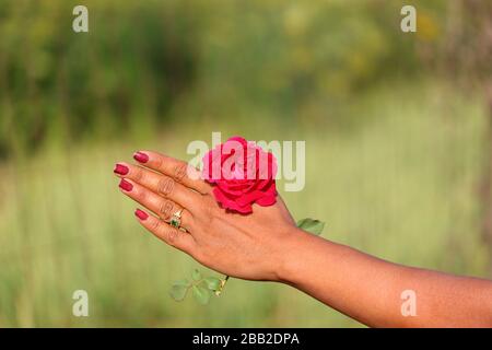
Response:
[{"label": "entire blurred green background surrounding the hand and rose", "polygon": [[[139,149],[189,159],[212,131],[305,140],[306,187],[282,196],[326,238],[491,278],[489,10],[0,0],[0,327],[361,326],[273,283],[233,279],[207,306],[168,296],[198,264],[143,231],[113,166]],[[79,289],[90,317],[72,315]]]}]

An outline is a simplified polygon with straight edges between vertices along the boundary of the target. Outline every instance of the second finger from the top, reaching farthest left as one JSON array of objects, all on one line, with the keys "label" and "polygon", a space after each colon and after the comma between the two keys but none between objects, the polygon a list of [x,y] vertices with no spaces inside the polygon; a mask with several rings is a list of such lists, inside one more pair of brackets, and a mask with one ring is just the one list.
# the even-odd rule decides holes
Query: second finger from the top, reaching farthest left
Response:
[{"label": "second finger from the top, reaching farthest left", "polygon": [[[200,194],[190,190],[181,184],[177,184],[173,178],[154,173],[141,166],[118,163],[116,164],[115,173],[124,178],[131,179],[132,182],[147,187],[151,191],[164,198],[168,198],[172,201],[177,202],[190,212],[196,211],[197,208],[199,208],[199,203],[203,200]],[[122,173],[125,173],[125,175],[121,175]]]}]

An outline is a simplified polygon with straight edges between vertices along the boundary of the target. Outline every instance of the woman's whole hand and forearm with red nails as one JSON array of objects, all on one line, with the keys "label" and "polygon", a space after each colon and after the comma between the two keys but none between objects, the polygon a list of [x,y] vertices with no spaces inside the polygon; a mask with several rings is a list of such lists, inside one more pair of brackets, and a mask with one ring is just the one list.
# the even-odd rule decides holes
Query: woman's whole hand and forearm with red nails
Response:
[{"label": "woman's whole hand and forearm with red nails", "polygon": [[[167,244],[227,276],[282,281],[370,326],[492,327],[492,282],[384,261],[295,228],[278,197],[253,213],[229,213],[198,171],[154,152],[138,152],[141,165],[119,163],[120,188],[154,215],[140,223]],[[188,176],[190,175],[190,176]],[[180,209],[181,228],[166,221]],[[401,295],[418,298],[407,317]]]}]

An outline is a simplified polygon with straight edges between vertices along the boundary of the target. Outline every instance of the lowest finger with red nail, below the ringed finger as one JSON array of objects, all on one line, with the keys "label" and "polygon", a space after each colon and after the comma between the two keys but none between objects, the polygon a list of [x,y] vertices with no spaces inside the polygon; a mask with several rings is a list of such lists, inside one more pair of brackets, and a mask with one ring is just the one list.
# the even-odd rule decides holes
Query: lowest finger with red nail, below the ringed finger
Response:
[{"label": "lowest finger with red nail, below the ringed finger", "polygon": [[142,224],[142,226],[149,230],[157,238],[187,254],[191,255],[195,252],[196,242],[189,233],[173,228],[164,221],[150,215],[149,213],[140,209],[137,209],[134,211],[134,215]]}]

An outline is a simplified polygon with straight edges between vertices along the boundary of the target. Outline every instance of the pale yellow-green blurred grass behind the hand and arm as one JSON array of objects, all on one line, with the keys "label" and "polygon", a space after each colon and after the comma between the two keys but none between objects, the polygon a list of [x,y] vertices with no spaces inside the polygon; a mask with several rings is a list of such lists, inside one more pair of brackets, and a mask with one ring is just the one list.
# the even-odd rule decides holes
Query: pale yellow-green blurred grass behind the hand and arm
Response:
[{"label": "pale yellow-green blurred grass behind the hand and arm", "polygon": [[[1,165],[0,327],[360,326],[273,283],[233,279],[208,306],[168,296],[171,282],[197,264],[140,228],[113,164],[141,148],[185,158],[187,143],[210,142],[212,130],[306,140],[305,190],[283,195],[294,217],[327,222],[325,237],[401,264],[485,277],[480,104],[441,85],[388,86],[344,110],[364,122],[342,132],[319,110],[307,126],[309,114],[286,125],[257,113],[239,125],[187,121],[151,141],[81,144]],[[89,292],[90,317],[71,314],[77,289]]]}]

